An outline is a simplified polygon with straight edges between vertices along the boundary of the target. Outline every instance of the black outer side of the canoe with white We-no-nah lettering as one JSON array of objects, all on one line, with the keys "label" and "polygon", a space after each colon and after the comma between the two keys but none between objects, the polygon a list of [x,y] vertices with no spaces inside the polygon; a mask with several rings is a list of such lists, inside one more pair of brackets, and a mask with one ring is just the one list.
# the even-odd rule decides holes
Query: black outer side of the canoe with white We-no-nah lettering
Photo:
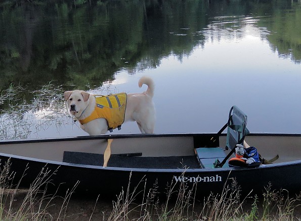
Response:
[{"label": "black outer side of the canoe with white We-no-nah lettering", "polygon": [[[208,135],[204,136],[208,137]],[[295,136],[299,137],[299,135],[293,137]],[[101,139],[103,138],[107,137]],[[285,139],[288,138],[285,137]],[[46,143],[40,144],[46,145]],[[130,192],[133,192],[135,188],[136,192],[149,191],[154,185],[160,193],[165,193],[168,185],[175,185],[176,188],[181,185],[188,188],[194,187],[197,198],[207,196],[210,192],[221,193],[227,185],[231,186],[233,182],[237,184],[235,188],[240,188],[243,194],[249,192],[261,194],[269,185],[272,189],[285,189],[290,193],[301,191],[301,176],[298,174],[301,170],[301,160],[253,168],[145,169],[74,164],[7,153],[0,154],[0,159],[2,166],[4,162],[10,160],[11,171],[15,172],[13,184],[19,184],[19,188],[28,188],[43,168],[44,172],[46,170],[50,171],[50,174],[54,172],[47,186],[50,192],[58,189],[59,192],[66,192],[68,189],[71,190],[78,181],[75,193],[109,197],[127,190],[129,184]],[[18,183],[20,180],[21,182]]]}]

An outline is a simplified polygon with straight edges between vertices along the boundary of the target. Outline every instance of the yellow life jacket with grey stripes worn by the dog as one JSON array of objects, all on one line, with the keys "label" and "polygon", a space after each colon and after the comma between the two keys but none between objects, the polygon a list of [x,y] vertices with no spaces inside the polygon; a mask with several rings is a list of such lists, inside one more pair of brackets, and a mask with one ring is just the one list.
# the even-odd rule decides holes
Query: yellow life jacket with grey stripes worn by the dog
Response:
[{"label": "yellow life jacket with grey stripes worn by the dog", "polygon": [[126,93],[114,95],[93,95],[96,99],[96,105],[92,114],[82,120],[81,124],[88,123],[98,118],[105,118],[108,122],[108,130],[121,129],[121,124],[124,122],[126,108]]}]

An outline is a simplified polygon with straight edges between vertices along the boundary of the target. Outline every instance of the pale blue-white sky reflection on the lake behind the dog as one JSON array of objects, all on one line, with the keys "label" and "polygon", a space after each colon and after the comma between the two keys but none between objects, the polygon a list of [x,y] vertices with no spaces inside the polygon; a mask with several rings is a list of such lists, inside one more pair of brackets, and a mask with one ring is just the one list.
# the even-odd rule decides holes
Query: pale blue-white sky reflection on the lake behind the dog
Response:
[{"label": "pale blue-white sky reflection on the lake behind the dog", "polygon": [[[139,78],[151,76],[156,84],[156,133],[217,132],[233,105],[247,114],[251,132],[300,133],[301,65],[272,50],[269,31],[257,26],[261,19],[213,18],[207,28],[195,33],[204,39],[189,56],[179,59],[170,54],[159,67],[135,75],[120,70],[102,88],[139,93],[146,90],[145,85],[139,89]],[[127,122],[113,134],[139,132],[135,122]],[[87,134],[76,122],[49,127],[30,137],[80,135]]]}]

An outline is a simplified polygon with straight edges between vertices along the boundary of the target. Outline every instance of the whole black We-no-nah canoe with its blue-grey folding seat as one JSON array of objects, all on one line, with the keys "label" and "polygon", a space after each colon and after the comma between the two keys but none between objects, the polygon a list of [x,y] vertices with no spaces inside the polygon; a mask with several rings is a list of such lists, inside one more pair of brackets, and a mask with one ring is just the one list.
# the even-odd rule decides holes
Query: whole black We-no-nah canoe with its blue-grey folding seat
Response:
[{"label": "whole black We-no-nah canoe with its blue-grey folding seat", "polygon": [[[225,128],[227,134],[222,133]],[[111,154],[103,167],[110,139]],[[272,164],[229,166],[235,145],[243,140],[263,158],[279,155],[279,159]],[[166,192],[166,185],[185,185],[200,198],[223,191],[233,180],[242,193],[262,193],[269,185],[289,192],[301,190],[301,135],[248,134],[246,115],[235,106],[218,133],[1,141],[0,159],[2,167],[9,161],[12,185],[19,188],[28,188],[42,170],[54,173],[47,186],[50,192],[70,190],[77,184],[75,193],[111,197],[127,190],[129,184],[129,191],[148,191],[156,185],[160,193]],[[216,159],[225,164],[214,167]]]}]

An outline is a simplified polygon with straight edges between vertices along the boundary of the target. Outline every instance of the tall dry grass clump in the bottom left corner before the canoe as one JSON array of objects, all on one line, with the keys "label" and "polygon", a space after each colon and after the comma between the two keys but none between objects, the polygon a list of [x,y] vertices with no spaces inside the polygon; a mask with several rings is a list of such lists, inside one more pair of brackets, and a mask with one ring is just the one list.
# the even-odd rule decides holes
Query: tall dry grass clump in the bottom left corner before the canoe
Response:
[{"label": "tall dry grass clump in the bottom left corner before the canoe", "polygon": [[[25,168],[18,184],[13,186],[11,183],[14,179],[14,172],[10,171],[10,165],[10,160],[0,164],[0,220],[64,220],[68,202],[78,184],[68,190],[65,197],[58,196],[56,193],[48,194],[47,186],[51,185],[51,179],[57,170],[50,171],[44,167],[29,189],[19,189],[28,168]],[[56,198],[62,198],[62,203],[55,218],[48,210],[54,206],[53,201]]]}]

